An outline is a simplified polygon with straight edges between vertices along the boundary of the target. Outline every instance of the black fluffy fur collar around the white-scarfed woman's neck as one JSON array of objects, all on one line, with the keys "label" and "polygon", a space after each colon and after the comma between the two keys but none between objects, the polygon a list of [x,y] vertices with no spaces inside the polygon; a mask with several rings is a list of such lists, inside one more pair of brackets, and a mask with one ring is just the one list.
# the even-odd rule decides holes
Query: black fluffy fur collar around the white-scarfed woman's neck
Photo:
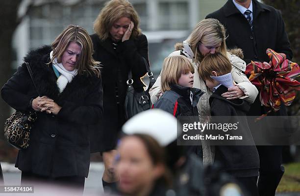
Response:
[{"label": "black fluffy fur collar around the white-scarfed woman's neck", "polygon": [[[36,50],[30,51],[24,60],[29,63],[32,70],[33,79],[39,93],[53,99],[58,104],[65,100],[84,99],[91,92],[93,86],[100,83],[100,79],[96,76],[87,77],[85,75],[76,75],[71,83],[59,94],[56,84],[56,76],[50,62],[50,46],[43,46]],[[26,69],[26,66],[23,65]]]}]

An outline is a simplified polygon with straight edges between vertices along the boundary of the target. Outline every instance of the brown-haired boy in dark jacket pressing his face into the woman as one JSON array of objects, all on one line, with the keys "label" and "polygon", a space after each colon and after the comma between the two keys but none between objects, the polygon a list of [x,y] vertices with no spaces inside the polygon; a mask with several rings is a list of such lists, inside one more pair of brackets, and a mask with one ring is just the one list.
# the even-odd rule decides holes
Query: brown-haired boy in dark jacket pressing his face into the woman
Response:
[{"label": "brown-haired boy in dark jacket pressing his face into the woman", "polygon": [[[228,100],[222,96],[227,87],[219,84],[210,76],[222,76],[230,73],[229,59],[221,54],[204,56],[199,65],[199,75],[213,91],[209,98],[210,114],[222,116],[222,123],[239,122],[238,134],[244,141],[253,145],[222,145],[216,146],[215,162],[223,165],[226,172],[234,176],[251,196],[258,196],[256,181],[259,169],[259,156],[247,123],[246,112],[250,105],[243,99]],[[232,95],[234,97],[234,95]]]}]

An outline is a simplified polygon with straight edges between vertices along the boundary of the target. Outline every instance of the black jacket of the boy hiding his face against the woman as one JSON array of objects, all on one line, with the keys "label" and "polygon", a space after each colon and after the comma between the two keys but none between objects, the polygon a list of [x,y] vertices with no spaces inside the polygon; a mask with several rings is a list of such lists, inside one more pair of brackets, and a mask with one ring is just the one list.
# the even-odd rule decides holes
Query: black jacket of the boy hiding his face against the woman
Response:
[{"label": "black jacket of the boy hiding his face against the woman", "polygon": [[[209,98],[212,122],[239,122],[242,126],[238,126],[236,134],[242,136],[245,142],[253,143],[253,145],[216,146],[215,161],[220,162],[224,166],[226,172],[234,177],[258,176],[259,156],[248,127],[246,116],[246,112],[250,109],[250,105],[242,99],[230,101],[222,97],[221,94],[225,92],[227,92],[227,88],[224,85],[221,85]],[[219,117],[218,120],[215,120],[214,116],[222,116],[222,119]]]}]

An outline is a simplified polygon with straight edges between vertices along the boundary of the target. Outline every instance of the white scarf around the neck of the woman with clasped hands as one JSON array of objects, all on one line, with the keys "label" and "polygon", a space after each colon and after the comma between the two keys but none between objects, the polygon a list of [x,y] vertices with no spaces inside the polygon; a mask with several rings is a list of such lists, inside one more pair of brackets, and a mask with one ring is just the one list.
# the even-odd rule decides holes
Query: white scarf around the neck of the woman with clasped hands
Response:
[{"label": "white scarf around the neck of the woman with clasped hands", "polygon": [[[53,51],[50,52],[50,59],[53,57]],[[64,68],[62,63],[57,62],[57,58],[52,60],[52,65],[57,69],[61,74],[56,80],[56,84],[59,88],[59,92],[62,92],[68,83],[71,83],[73,78],[77,75],[77,69],[74,71],[68,71]]]}]

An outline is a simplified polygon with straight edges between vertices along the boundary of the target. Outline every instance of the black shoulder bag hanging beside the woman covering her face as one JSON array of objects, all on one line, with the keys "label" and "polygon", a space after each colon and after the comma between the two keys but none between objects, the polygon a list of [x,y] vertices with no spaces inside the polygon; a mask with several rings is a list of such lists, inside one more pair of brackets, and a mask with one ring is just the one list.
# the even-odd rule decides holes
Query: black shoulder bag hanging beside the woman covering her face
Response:
[{"label": "black shoulder bag hanging beside the woman covering her face", "polygon": [[144,63],[147,70],[147,75],[149,76],[150,82],[147,90],[137,92],[134,90],[132,84],[132,74],[131,71],[128,74],[128,80],[127,80],[127,92],[126,92],[126,98],[125,98],[125,115],[126,119],[128,120],[135,114],[139,112],[143,112],[145,110],[149,110],[152,106],[151,100],[150,100],[150,94],[149,90],[155,83],[155,79],[153,77],[153,73],[150,71],[150,66],[147,62],[147,60],[143,57]]}]

